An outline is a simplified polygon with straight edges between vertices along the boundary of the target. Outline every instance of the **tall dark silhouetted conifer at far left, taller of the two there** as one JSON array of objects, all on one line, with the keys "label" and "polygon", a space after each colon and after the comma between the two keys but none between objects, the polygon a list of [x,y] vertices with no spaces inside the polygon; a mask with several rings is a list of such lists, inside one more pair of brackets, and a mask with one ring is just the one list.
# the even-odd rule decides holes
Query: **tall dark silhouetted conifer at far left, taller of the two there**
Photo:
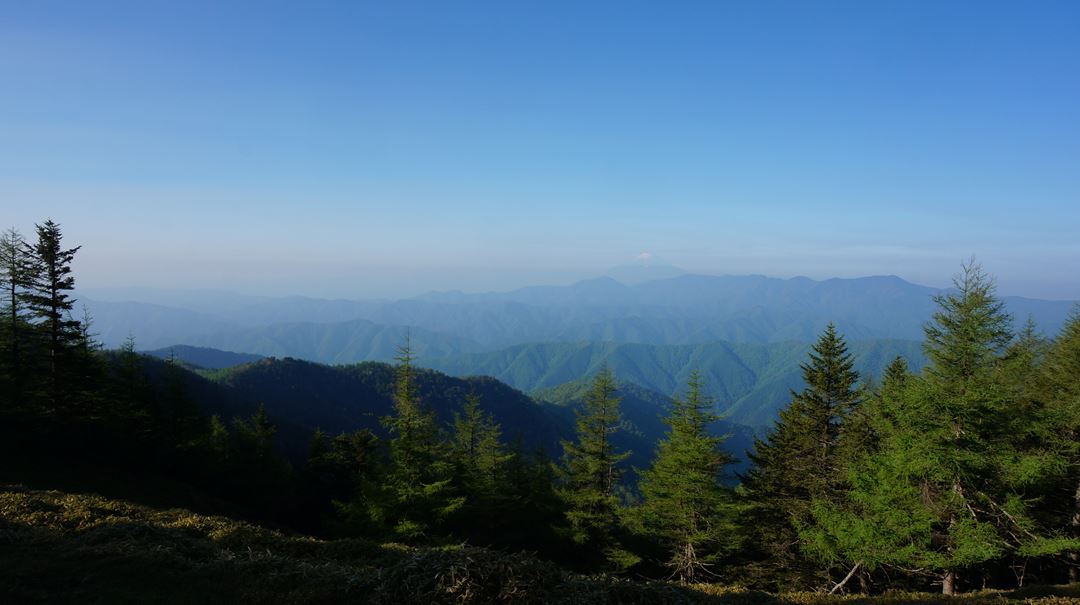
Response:
[{"label": "tall dark silhouetted conifer at far left, taller of the two there", "polygon": [[59,225],[52,220],[37,225],[38,241],[24,243],[30,259],[24,300],[31,321],[44,337],[49,367],[46,395],[53,411],[60,405],[60,398],[68,387],[72,350],[82,340],[78,320],[71,318],[75,288],[71,263],[80,246],[64,250]]}]

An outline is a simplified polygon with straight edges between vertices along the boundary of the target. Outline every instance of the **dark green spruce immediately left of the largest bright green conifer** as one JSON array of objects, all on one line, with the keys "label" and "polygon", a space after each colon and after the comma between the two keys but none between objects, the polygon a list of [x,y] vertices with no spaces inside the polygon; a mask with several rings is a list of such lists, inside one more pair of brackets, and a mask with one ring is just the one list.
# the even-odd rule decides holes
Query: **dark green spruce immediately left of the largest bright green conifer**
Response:
[{"label": "dark green spruce immediately left of the largest bright green conifer", "polygon": [[772,431],[755,440],[743,489],[756,523],[752,539],[762,552],[764,574],[778,588],[827,578],[808,560],[800,528],[813,523],[812,502],[840,493],[845,456],[842,424],[862,402],[859,373],[843,337],[829,323],[804,363],[806,388],[792,393]]}]

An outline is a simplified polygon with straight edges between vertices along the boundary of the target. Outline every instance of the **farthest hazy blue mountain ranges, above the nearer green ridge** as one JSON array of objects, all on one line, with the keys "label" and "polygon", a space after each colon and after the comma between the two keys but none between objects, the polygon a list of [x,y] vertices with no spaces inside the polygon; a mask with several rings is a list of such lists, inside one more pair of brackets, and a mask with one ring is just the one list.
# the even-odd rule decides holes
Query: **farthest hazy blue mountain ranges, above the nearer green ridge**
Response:
[{"label": "farthest hazy blue mountain ranges, above the nearer green ridge", "polygon": [[[378,340],[407,328],[418,345],[445,354],[545,341],[810,341],[829,321],[851,340],[921,339],[940,292],[895,277],[814,281],[680,274],[633,285],[604,277],[567,286],[443,292],[393,301],[221,293],[201,300],[177,293],[170,306],[162,304],[167,300],[160,291],[97,291],[85,293],[82,301],[107,346],[132,335],[147,349],[186,344],[348,362],[389,359],[392,348]],[[1064,324],[1074,305],[1004,300],[1018,320],[1031,317],[1048,334]]]}]

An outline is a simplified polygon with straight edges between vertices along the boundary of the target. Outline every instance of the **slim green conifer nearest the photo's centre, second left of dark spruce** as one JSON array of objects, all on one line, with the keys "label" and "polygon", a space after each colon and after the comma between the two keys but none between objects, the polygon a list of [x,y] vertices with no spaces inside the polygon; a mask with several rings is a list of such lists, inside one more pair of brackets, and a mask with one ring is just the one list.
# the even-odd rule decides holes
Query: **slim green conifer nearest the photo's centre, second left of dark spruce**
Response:
[{"label": "slim green conifer nearest the photo's centre, second left of dark spruce", "polygon": [[585,395],[584,409],[578,413],[577,442],[563,442],[559,494],[566,501],[571,539],[602,554],[616,568],[625,568],[636,560],[618,539],[616,487],[623,473],[620,463],[630,453],[617,452],[611,442],[622,424],[616,392],[615,376],[605,367]]}]

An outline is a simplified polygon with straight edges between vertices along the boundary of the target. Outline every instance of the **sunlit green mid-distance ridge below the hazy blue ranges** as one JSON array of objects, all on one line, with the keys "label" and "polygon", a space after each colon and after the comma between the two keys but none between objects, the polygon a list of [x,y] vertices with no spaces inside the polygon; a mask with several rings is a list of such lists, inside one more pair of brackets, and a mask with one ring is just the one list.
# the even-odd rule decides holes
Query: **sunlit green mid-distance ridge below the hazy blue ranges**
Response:
[{"label": "sunlit green mid-distance ridge below the hazy blue ranges", "polygon": [[[731,422],[759,428],[772,422],[777,411],[786,405],[792,389],[802,387],[799,365],[806,361],[809,348],[802,342],[550,342],[424,359],[423,363],[453,375],[489,375],[527,392],[593,376],[607,365],[620,381],[674,393],[683,388],[690,372],[698,369]],[[921,344],[914,340],[851,341],[849,348],[864,377],[880,376],[896,355],[907,359],[915,369],[923,365]]]}]

